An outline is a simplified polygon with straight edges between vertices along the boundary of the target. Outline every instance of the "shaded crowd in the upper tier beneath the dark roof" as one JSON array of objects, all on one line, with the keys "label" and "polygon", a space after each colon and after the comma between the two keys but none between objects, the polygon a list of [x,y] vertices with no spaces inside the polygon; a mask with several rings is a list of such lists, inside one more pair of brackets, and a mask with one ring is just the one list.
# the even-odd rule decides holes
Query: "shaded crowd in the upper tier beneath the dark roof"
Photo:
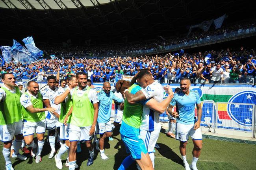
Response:
[{"label": "shaded crowd in the upper tier beneath the dark roof", "polygon": [[204,32],[200,28],[192,31],[189,36],[179,35],[168,37],[165,40],[158,38],[148,41],[130,42],[127,44],[100,44],[98,46],[72,45],[67,44],[63,46],[40,46],[46,56],[56,55],[61,57],[86,57],[86,56],[125,56],[128,54],[138,54],[143,50],[159,51],[164,50],[166,46],[197,41],[207,38],[211,35],[223,35],[232,31],[239,31],[245,28],[254,28],[255,20],[239,21],[237,23],[223,24],[222,28],[214,30],[210,28],[209,31]]}]

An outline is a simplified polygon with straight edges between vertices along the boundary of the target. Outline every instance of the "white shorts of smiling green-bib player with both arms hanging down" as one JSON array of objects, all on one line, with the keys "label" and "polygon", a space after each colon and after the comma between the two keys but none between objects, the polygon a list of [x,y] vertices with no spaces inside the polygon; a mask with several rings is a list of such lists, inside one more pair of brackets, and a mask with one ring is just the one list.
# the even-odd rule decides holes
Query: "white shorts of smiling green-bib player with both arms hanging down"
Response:
[{"label": "white shorts of smiling green-bib player with both arms hanging down", "polygon": [[69,141],[81,141],[81,140],[92,140],[93,136],[89,135],[91,126],[79,127],[70,124],[69,125]]}]

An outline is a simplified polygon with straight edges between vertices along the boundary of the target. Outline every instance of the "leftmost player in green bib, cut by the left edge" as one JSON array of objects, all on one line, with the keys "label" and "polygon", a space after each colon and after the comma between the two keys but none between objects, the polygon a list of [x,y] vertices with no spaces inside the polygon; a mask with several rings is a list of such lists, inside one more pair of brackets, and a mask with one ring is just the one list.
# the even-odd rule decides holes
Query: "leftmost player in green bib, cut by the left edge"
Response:
[{"label": "leftmost player in green bib, cut by the left edge", "polygon": [[22,107],[20,105],[20,90],[16,87],[15,77],[11,73],[2,74],[4,85],[0,88],[0,140],[4,142],[3,155],[6,161],[6,170],[13,170],[10,152],[13,136],[14,154],[20,160],[27,157],[19,154],[22,144]]}]

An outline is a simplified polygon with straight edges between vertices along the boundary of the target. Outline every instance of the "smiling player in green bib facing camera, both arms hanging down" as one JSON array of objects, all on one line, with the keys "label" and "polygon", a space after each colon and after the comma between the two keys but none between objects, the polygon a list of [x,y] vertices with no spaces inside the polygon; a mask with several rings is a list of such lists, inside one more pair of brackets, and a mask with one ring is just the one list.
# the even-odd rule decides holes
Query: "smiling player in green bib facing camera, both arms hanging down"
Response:
[{"label": "smiling player in green bib facing camera, both arms hanging down", "polygon": [[69,170],[74,170],[76,165],[76,147],[78,141],[85,140],[86,147],[89,149],[90,157],[87,166],[93,164],[94,146],[91,142],[98,117],[98,98],[97,92],[87,85],[87,75],[84,72],[76,73],[78,87],[72,89],[72,107],[66,115],[66,124],[69,115],[72,113],[69,127]]}]

